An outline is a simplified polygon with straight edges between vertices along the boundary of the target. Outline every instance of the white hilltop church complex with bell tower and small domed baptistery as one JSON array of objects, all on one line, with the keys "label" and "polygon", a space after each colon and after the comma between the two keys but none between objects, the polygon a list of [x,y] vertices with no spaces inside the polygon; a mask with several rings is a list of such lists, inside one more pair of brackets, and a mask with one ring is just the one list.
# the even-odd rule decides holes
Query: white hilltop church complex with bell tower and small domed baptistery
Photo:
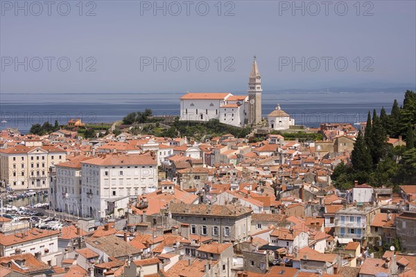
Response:
[{"label": "white hilltop church complex with bell tower and small domed baptistery", "polygon": [[[227,92],[188,92],[180,98],[180,120],[209,121],[212,118],[220,123],[236,127],[261,126],[261,77],[256,56],[254,56],[248,95],[234,96]],[[284,115],[280,118],[280,115]],[[284,111],[272,111],[268,115],[269,129],[288,129],[295,125]]]}]

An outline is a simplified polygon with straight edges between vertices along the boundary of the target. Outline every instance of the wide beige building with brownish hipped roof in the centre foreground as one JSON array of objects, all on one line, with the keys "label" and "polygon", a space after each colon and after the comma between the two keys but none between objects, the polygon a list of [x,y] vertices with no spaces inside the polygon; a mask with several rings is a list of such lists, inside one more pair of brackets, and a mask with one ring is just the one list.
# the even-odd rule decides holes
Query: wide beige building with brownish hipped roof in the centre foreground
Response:
[{"label": "wide beige building with brownish hipped roof in the centre foreground", "polygon": [[184,237],[191,234],[234,244],[250,238],[252,209],[248,207],[171,203],[168,211],[173,220],[187,227],[181,233]]}]

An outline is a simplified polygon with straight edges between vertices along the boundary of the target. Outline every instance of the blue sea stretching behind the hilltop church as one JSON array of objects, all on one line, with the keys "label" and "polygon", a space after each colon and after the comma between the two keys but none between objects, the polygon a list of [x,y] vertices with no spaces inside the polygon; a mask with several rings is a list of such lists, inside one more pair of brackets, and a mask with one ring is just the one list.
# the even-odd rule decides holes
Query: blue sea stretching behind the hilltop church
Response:
[{"label": "blue sea stretching behind the hilltop church", "polygon": [[[390,113],[397,91],[263,91],[262,113],[267,116],[279,103],[296,125],[318,127],[321,123],[357,123],[368,111],[381,107]],[[245,95],[245,92],[232,92]],[[0,93],[0,129],[17,127],[22,134],[46,121],[60,125],[71,118],[83,123],[112,123],[132,111],[152,109],[157,116],[179,116],[183,93]]]}]

